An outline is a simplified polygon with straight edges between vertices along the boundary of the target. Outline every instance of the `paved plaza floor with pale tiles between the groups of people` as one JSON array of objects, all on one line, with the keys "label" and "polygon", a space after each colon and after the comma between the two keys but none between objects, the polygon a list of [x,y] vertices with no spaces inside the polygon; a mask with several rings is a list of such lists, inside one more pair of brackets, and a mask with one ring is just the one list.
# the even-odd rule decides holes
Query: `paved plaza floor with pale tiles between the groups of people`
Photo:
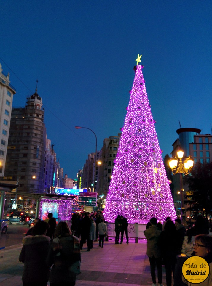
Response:
[{"label": "paved plaza floor with pale tiles between the groups of people", "polygon": [[[7,247],[0,258],[0,286],[22,286],[23,263],[18,256],[22,245]],[[76,286],[152,286],[149,259],[146,256],[146,240],[129,240],[116,245],[114,239],[106,241],[104,248],[93,243],[87,252],[86,245],[81,250],[81,274],[77,276]],[[163,285],[165,269],[163,267]]]}]

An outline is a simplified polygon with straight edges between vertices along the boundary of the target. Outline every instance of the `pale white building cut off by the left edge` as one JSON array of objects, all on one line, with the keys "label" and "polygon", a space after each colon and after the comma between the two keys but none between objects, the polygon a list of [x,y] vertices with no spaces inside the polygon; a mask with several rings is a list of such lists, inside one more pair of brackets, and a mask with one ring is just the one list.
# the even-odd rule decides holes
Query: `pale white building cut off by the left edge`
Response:
[{"label": "pale white building cut off by the left edge", "polygon": [[12,100],[15,93],[15,88],[10,84],[9,73],[3,73],[0,63],[0,177],[4,177]]}]

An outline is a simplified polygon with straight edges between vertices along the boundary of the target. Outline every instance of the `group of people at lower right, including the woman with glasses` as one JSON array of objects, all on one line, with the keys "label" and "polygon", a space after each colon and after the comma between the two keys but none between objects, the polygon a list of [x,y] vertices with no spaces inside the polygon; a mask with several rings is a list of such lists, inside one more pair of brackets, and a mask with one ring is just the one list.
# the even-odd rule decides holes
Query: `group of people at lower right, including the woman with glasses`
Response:
[{"label": "group of people at lower right, including the woman with glasses", "polygon": [[[181,253],[186,258],[198,255],[212,266],[212,237],[208,234],[209,225],[202,216],[198,216],[194,226],[188,230],[179,218],[173,222],[167,217],[163,224],[157,223],[157,218],[151,218],[144,235],[147,239],[146,254],[149,257],[152,286],[156,286],[156,268],[158,284],[162,286],[162,265],[165,266],[167,286],[172,285],[172,274],[174,278],[175,274],[178,276],[177,285],[193,285],[185,279],[182,281],[181,274],[175,273],[177,258]],[[201,285],[212,285],[212,274]]]}]

